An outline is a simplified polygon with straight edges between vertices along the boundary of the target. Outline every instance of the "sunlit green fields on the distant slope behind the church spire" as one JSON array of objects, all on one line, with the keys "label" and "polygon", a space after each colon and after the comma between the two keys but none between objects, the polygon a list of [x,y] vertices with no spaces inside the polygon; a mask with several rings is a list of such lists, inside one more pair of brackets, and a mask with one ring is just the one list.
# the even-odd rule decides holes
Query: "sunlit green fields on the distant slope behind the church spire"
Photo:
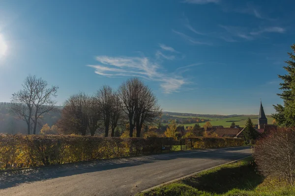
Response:
[{"label": "sunlit green fields on the distant slope behind the church spire", "polygon": [[[188,118],[187,116],[175,116],[177,118]],[[236,125],[239,125],[241,127],[245,126],[246,121],[248,118],[252,120],[254,124],[257,124],[258,121],[258,115],[245,115],[245,116],[239,116],[239,117],[231,117],[231,118],[225,118],[225,119],[220,119],[220,118],[203,118],[203,117],[198,117],[200,119],[210,119],[210,123],[213,126],[217,125],[222,125],[224,127],[230,127],[232,122],[235,122]],[[267,122],[268,124],[272,124],[273,118],[270,116],[267,116]],[[199,123],[201,126],[203,126],[205,123]],[[183,124],[185,126],[194,126],[195,123],[190,123],[190,124]]]}]

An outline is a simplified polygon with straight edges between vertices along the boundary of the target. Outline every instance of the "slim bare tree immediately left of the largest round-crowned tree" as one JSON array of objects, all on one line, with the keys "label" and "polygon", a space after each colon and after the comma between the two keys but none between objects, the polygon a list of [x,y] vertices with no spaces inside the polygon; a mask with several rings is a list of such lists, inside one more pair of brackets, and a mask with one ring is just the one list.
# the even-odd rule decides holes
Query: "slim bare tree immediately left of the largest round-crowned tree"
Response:
[{"label": "slim bare tree immediately left of the largest round-crowned tree", "polygon": [[121,118],[121,102],[117,93],[113,94],[113,106],[111,109],[111,137],[115,136],[115,129],[118,125],[119,119]]}]

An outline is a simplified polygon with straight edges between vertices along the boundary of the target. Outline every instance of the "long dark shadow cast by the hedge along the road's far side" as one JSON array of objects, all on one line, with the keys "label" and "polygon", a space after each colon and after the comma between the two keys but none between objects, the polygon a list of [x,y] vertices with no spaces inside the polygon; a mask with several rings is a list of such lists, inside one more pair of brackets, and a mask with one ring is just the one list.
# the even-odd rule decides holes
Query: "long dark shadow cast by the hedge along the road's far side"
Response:
[{"label": "long dark shadow cast by the hedge along the road's far side", "polygon": [[[0,173],[0,189],[14,187],[22,183],[32,183],[34,181],[48,180],[58,177],[65,177],[77,175],[82,173],[107,171],[118,168],[139,166],[148,163],[160,162],[177,159],[208,159],[216,160],[223,159],[226,161],[233,161],[246,156],[250,153],[236,152],[236,150],[243,150],[249,147],[234,147],[234,148],[220,148],[215,150],[187,150],[175,153],[144,155],[138,157],[116,158],[108,160],[90,161],[86,163],[65,164],[59,166],[51,166],[44,168],[35,168],[27,170],[19,170],[12,172]],[[185,167],[185,166],[183,166]]]}]

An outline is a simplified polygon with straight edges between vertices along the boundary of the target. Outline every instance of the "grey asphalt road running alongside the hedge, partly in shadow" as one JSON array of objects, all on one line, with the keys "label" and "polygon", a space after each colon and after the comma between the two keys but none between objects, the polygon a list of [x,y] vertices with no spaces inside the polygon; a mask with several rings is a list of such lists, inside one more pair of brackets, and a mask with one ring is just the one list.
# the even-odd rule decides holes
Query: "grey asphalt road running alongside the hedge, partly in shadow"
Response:
[{"label": "grey asphalt road running alongside the hedge, partly in shadow", "polygon": [[0,196],[130,196],[249,155],[249,147],[216,148],[1,172]]}]

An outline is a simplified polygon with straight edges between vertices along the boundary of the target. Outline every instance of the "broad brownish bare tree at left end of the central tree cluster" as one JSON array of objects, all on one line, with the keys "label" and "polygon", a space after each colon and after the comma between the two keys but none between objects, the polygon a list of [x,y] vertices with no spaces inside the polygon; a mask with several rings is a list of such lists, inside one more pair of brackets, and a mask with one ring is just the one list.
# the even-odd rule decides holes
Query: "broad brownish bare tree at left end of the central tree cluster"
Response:
[{"label": "broad brownish bare tree at left end of the central tree cluster", "polygon": [[64,134],[86,135],[89,125],[89,97],[85,93],[71,96],[64,102],[61,118],[57,123]]}]

